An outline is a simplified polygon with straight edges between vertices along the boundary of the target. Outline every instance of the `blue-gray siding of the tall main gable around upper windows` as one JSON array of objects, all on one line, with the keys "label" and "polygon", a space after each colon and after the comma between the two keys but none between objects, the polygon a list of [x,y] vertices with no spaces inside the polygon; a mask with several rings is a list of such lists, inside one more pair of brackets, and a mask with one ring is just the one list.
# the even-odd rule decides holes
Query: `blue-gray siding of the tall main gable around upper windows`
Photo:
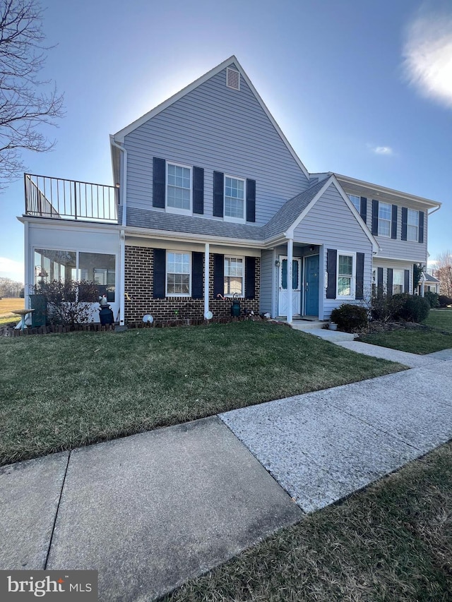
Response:
[{"label": "blue-gray siding of the tall main gable around upper windows", "polygon": [[239,91],[225,78],[220,71],[126,136],[129,207],[153,208],[153,157],[204,168],[204,215],[194,219],[213,217],[213,171],[256,180],[256,226],[307,188],[244,78]]}]

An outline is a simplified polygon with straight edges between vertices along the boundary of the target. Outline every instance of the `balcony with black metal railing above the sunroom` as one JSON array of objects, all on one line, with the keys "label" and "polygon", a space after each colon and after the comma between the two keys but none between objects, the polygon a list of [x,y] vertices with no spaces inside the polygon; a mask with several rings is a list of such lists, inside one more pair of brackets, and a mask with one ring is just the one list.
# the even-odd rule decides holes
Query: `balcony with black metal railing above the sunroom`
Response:
[{"label": "balcony with black metal railing above the sunroom", "polygon": [[24,174],[25,215],[117,224],[119,189]]}]

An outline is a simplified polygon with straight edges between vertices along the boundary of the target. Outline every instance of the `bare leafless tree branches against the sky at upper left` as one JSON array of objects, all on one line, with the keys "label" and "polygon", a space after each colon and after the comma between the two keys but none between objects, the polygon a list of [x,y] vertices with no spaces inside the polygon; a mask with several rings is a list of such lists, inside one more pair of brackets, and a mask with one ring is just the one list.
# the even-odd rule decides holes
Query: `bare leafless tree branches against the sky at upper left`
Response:
[{"label": "bare leafless tree branches against the sky at upper left", "polygon": [[[24,149],[46,152],[53,148],[40,131],[56,125],[63,115],[63,96],[46,89],[49,80],[37,75],[46,52],[39,0],[0,0],[0,179],[3,186],[24,169]],[[1,188],[1,186],[0,186]]]}]

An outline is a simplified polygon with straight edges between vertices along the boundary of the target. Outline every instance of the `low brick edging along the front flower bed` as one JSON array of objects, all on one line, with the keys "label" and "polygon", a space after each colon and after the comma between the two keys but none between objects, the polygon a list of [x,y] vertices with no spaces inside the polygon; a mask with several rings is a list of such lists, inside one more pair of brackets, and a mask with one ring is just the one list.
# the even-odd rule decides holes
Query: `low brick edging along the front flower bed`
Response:
[{"label": "low brick edging along the front flower bed", "polygon": [[[188,318],[186,320],[155,320],[153,324],[143,322],[130,322],[127,324],[127,330],[137,330],[140,328],[168,328],[176,326],[202,326],[208,324],[228,324],[232,322],[252,322],[266,321],[260,315],[243,315],[237,318],[212,318],[204,320],[203,318]],[[0,327],[0,337],[24,337],[30,335],[50,335],[61,334],[64,332],[114,332],[117,325],[109,324],[102,326],[100,323],[76,324],[74,326],[40,326],[37,328],[26,328],[20,330],[11,326]]]}]

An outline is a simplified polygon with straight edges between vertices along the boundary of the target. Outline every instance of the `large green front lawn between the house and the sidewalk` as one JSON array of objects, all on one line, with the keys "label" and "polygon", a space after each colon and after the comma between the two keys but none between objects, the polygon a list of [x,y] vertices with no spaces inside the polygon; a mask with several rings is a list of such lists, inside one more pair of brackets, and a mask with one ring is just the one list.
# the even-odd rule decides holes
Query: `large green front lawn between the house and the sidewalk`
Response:
[{"label": "large green front lawn between the house and the sidewalk", "polygon": [[0,339],[0,464],[403,369],[260,322]]}]

